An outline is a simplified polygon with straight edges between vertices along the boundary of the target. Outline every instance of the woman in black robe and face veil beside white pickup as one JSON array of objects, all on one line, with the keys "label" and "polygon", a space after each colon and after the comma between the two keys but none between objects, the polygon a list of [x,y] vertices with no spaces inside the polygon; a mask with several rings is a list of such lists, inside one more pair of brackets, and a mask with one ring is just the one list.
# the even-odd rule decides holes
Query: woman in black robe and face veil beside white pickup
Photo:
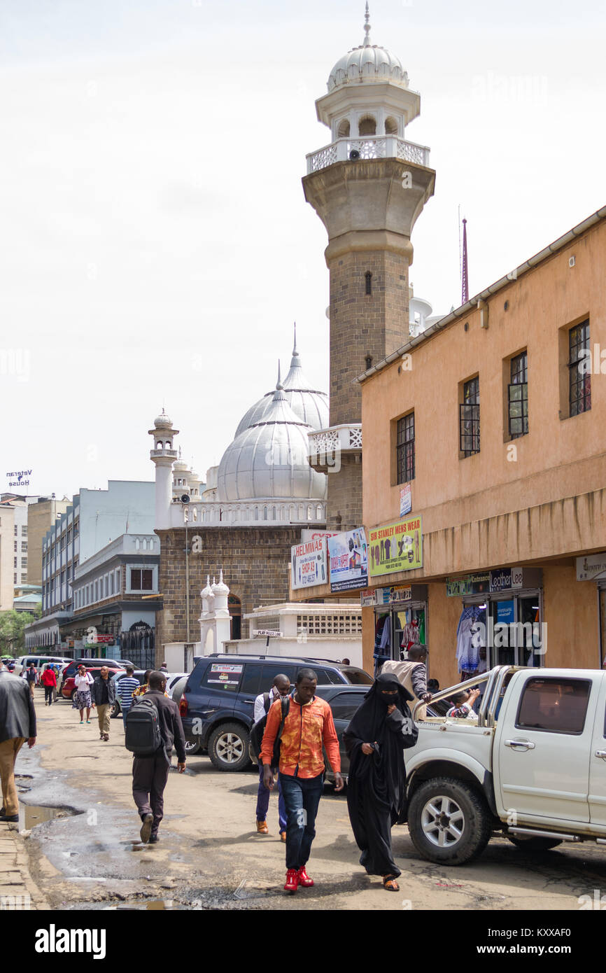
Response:
[{"label": "woman in black robe and face veil beside white pickup", "polygon": [[402,874],[391,849],[391,828],[406,804],[404,750],[418,736],[411,700],[394,673],[381,673],[343,734],[350,761],[347,810],[362,852],[360,864],[369,875],[380,875],[391,892],[400,890],[396,880]]}]

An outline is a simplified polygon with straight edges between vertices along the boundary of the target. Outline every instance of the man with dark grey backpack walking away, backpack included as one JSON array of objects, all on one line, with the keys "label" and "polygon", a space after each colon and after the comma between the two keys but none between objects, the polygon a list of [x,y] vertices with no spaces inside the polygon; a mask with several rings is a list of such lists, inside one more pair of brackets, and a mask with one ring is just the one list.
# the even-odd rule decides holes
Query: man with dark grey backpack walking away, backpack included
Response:
[{"label": "man with dark grey backpack walking away, backpack included", "polygon": [[185,772],[185,735],[177,703],[164,696],[166,677],[150,672],[145,696],[135,697],[125,719],[125,746],[134,755],[132,796],[143,822],[141,841],[158,842],[164,811],[172,747],[177,751],[177,770]]}]

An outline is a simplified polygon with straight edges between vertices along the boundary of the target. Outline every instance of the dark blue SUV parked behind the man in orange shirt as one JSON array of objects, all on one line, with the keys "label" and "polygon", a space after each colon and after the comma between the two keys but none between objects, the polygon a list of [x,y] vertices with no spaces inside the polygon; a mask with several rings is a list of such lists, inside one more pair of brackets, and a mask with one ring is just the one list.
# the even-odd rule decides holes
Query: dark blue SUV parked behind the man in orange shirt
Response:
[{"label": "dark blue SUV parked behind the man in orange shirt", "polygon": [[294,685],[300,668],[310,667],[318,683],[371,686],[364,669],[326,659],[285,659],[280,656],[205,656],[185,687],[179,711],[188,754],[207,750],[219,771],[243,771],[250,764],[248,739],[255,699],[267,693],[278,673]]}]

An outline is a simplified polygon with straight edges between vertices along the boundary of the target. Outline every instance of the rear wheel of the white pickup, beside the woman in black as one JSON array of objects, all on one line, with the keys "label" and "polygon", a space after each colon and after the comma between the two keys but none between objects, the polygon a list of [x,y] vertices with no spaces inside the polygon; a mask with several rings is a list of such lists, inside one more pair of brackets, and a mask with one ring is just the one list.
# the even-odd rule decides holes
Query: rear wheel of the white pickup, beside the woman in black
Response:
[{"label": "rear wheel of the white pickup, beside the woman in black", "polygon": [[471,861],[488,844],[491,827],[485,801],[463,780],[427,780],[410,800],[410,838],[430,861],[449,865]]}]

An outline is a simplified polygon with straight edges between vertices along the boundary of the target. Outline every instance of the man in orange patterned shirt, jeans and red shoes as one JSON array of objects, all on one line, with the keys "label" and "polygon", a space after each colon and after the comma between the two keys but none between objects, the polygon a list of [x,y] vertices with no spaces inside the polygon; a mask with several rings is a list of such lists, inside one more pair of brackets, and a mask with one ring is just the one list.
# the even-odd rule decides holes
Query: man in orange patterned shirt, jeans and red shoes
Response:
[{"label": "man in orange patterned shirt, jeans and red shoes", "polygon": [[261,748],[264,783],[273,790],[273,745],[281,731],[279,780],[287,820],[284,885],[287,892],[296,892],[299,885],[303,888],[313,885],[305,865],[315,837],[315,818],[324,790],[323,747],[335,772],[335,790],[343,789],[333,713],[328,703],[315,696],[317,684],[318,677],[313,669],[299,670],[283,726],[282,703],[276,700],[267,713]]}]

